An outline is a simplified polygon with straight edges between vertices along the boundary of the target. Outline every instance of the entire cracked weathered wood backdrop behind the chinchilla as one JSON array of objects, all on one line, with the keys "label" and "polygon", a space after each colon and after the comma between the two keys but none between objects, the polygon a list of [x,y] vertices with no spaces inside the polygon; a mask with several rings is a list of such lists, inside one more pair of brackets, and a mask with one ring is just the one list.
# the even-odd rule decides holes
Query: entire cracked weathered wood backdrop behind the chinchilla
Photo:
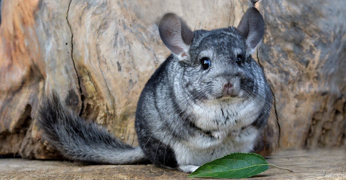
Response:
[{"label": "entire cracked weathered wood backdrop behind the chinchilla", "polygon": [[[253,6],[197,2],[1,1],[0,154],[60,158],[36,125],[37,108],[52,89],[76,114],[136,145],[139,93],[169,55],[158,34],[160,17],[175,12],[192,29],[214,29],[236,26]],[[258,143],[261,154],[279,146],[346,147],[345,5],[255,3],[266,32],[254,58],[277,109]]]}]

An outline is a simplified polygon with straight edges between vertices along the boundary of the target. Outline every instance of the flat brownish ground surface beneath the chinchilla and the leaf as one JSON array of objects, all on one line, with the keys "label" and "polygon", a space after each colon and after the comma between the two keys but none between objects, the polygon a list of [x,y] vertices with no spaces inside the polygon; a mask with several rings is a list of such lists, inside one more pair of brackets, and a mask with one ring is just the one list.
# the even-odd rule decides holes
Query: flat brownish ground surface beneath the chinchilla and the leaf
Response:
[{"label": "flat brownish ground surface beneath the chinchilla and the leaf", "polygon": [[[345,150],[281,150],[270,167],[251,179],[346,179]],[[147,165],[83,165],[69,161],[0,159],[0,179],[190,179],[188,174]]]}]

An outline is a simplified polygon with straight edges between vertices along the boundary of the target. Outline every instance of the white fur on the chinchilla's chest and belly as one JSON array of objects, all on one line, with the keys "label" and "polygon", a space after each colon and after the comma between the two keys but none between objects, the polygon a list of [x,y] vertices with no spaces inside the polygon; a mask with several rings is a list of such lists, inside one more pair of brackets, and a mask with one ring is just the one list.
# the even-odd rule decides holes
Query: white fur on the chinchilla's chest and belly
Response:
[{"label": "white fur on the chinchilla's chest and belly", "polygon": [[[222,118],[221,108],[224,113],[237,112],[237,115],[232,113],[225,122]],[[253,101],[244,102],[241,106],[239,106],[239,103],[210,104],[205,108],[193,108],[193,113],[199,119],[195,122],[196,126],[211,131],[213,136],[216,134],[218,139],[206,134],[198,134],[197,136],[191,136],[186,141],[175,142],[172,148],[177,163],[179,165],[201,166],[229,153],[251,151],[258,130],[248,125],[257,118],[257,109],[258,104]],[[238,122],[236,123],[235,120],[238,120]],[[240,131],[242,127],[246,126],[248,126],[246,129]]]}]

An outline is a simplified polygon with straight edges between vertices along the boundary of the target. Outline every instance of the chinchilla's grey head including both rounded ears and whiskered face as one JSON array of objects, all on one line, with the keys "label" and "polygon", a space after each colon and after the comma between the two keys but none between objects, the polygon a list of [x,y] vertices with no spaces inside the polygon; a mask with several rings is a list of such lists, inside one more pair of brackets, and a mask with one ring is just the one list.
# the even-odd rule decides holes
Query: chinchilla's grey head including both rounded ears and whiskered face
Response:
[{"label": "chinchilla's grey head including both rounded ears and whiskered face", "polygon": [[[163,16],[160,37],[183,69],[182,87],[195,99],[245,98],[254,91],[256,78],[263,79],[251,57],[264,33],[264,20],[249,8],[237,28],[191,31],[173,13]],[[261,72],[261,73],[259,73]]]}]

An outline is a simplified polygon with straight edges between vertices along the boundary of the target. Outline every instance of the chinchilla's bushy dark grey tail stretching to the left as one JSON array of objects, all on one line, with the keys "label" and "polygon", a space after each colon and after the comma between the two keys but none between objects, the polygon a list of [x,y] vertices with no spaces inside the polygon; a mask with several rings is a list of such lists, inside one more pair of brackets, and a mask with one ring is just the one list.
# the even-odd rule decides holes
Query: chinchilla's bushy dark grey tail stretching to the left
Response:
[{"label": "chinchilla's bushy dark grey tail stretching to the left", "polygon": [[86,122],[65,108],[57,93],[42,103],[38,122],[43,137],[71,160],[101,164],[134,164],[147,161],[142,149],[114,138],[94,122]]}]

